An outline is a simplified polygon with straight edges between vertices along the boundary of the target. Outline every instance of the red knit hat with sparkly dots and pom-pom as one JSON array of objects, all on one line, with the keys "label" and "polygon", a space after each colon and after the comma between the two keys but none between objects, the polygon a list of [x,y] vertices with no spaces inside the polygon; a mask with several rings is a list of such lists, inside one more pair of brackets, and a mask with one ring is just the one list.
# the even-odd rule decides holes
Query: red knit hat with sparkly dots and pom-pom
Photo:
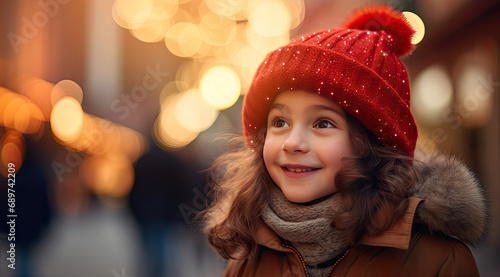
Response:
[{"label": "red knit hat with sparkly dots and pom-pom", "polygon": [[414,33],[398,11],[372,6],[354,13],[343,28],[305,35],[269,53],[243,102],[249,146],[249,138],[267,127],[276,95],[300,89],[338,103],[383,145],[412,157],[417,127],[400,58],[413,50]]}]

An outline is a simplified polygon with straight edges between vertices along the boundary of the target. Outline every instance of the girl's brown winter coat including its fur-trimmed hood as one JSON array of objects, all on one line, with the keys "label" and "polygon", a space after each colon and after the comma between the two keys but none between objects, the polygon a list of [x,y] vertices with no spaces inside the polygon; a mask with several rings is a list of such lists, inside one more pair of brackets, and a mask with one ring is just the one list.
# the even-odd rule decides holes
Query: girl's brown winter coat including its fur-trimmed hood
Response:
[{"label": "girl's brown winter coat including its fur-trimmed hood", "polygon": [[[365,236],[339,258],[329,276],[479,276],[471,251],[488,221],[483,189],[467,167],[432,154],[414,163],[421,178],[403,218],[378,236]],[[309,276],[300,254],[263,222],[258,251],[246,260],[230,260],[229,276]]]}]

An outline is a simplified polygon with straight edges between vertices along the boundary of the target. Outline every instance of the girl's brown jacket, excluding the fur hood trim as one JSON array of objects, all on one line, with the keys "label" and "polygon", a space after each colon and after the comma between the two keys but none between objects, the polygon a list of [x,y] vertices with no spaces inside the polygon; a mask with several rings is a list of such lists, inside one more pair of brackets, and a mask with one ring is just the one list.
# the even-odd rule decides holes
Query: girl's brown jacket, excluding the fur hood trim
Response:
[{"label": "girl's brown jacket, excluding the fur hood trim", "polygon": [[[474,258],[462,242],[414,228],[417,204],[412,198],[405,217],[378,237],[365,238],[349,250],[330,276],[479,276]],[[231,260],[224,276],[309,276],[300,256],[282,244],[264,224],[258,230],[261,245],[256,258]]]}]

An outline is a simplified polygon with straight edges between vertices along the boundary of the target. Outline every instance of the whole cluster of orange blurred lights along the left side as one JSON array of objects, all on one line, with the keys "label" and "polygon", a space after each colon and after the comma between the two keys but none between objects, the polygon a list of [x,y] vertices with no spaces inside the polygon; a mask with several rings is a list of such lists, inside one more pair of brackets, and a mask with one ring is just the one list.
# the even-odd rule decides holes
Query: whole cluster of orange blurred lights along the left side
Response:
[{"label": "whole cluster of orange blurred lights along the left side", "polygon": [[134,181],[133,163],[147,151],[147,140],[130,128],[85,113],[82,101],[83,90],[72,80],[52,84],[25,78],[20,93],[0,87],[0,126],[6,129],[0,137],[0,174],[7,176],[9,163],[16,170],[21,167],[23,135],[41,133],[50,121],[56,141],[87,154],[81,177],[89,189],[104,197],[125,196]]}]

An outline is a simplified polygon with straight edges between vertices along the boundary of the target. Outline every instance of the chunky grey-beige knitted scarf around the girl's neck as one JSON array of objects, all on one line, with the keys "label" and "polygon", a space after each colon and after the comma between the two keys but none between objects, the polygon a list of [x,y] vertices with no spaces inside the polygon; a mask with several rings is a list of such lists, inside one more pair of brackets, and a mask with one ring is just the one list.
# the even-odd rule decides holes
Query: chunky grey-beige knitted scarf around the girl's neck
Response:
[{"label": "chunky grey-beige knitted scarf around the girl's neck", "polygon": [[288,201],[277,188],[262,219],[301,254],[312,276],[325,276],[331,265],[321,268],[321,264],[340,256],[349,247],[341,232],[331,225],[331,220],[344,211],[339,194],[304,205]]}]

